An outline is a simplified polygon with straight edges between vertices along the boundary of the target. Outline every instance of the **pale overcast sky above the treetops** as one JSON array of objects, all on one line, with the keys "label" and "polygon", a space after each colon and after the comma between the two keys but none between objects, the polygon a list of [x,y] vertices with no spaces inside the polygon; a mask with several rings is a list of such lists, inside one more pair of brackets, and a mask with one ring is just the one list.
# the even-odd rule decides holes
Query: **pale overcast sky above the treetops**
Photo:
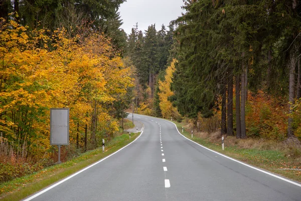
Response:
[{"label": "pale overcast sky above the treetops", "polygon": [[119,9],[123,22],[121,28],[129,34],[137,22],[138,29],[144,33],[149,25],[156,23],[158,31],[162,24],[167,27],[170,21],[181,16],[184,12],[181,6],[183,0],[127,0]]}]

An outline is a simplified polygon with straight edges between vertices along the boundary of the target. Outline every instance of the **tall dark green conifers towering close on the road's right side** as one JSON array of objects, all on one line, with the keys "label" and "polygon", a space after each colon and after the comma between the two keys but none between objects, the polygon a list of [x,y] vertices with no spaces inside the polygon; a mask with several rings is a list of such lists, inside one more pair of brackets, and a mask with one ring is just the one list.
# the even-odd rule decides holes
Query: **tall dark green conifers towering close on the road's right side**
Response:
[{"label": "tall dark green conifers towering close on the road's right side", "polygon": [[248,89],[285,95],[291,104],[300,97],[299,1],[186,1],[184,9],[174,21],[180,54],[172,85],[181,114],[211,116],[220,103],[221,133],[233,135],[235,83],[236,137],[246,138]]}]

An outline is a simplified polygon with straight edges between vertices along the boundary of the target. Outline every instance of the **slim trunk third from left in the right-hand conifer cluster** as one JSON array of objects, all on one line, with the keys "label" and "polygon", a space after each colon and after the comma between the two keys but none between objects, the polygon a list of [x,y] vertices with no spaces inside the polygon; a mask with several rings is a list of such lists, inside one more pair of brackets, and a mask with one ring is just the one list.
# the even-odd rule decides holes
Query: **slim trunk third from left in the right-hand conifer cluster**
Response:
[{"label": "slim trunk third from left in the right-hand conifer cluster", "polygon": [[236,138],[241,138],[240,123],[240,75],[236,75],[235,80],[235,115],[236,115]]}]

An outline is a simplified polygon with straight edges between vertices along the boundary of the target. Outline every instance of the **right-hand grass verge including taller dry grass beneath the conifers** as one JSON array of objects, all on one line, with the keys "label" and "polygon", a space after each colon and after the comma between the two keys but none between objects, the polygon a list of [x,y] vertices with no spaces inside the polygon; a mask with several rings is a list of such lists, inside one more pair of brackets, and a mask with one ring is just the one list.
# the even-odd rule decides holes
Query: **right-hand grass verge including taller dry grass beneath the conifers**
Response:
[{"label": "right-hand grass verge including taller dry grass beneath the conifers", "polygon": [[[213,140],[212,138],[210,139],[208,137],[199,136],[194,132],[194,136],[191,138],[191,131],[184,130],[184,132],[182,132],[182,127],[185,127],[184,123],[174,123],[177,125],[177,128],[181,134],[195,141],[196,143],[199,143],[214,151],[218,151],[224,155],[246,162],[250,165],[301,182],[300,158],[290,158],[289,155],[287,156],[287,153],[279,148],[273,147],[273,145],[265,143],[267,147],[262,148],[262,146],[257,145],[257,147],[260,148],[256,148],[256,146],[253,144],[250,145],[249,148],[242,148],[239,146],[239,141],[241,141],[241,143],[245,143],[247,142],[246,140],[236,139],[235,137],[228,136],[225,139],[225,150],[222,150],[220,137]],[[228,142],[231,141],[234,143],[227,144],[227,140]],[[260,143],[259,139],[250,141],[257,141],[257,144]],[[275,146],[281,146],[281,144]]]}]

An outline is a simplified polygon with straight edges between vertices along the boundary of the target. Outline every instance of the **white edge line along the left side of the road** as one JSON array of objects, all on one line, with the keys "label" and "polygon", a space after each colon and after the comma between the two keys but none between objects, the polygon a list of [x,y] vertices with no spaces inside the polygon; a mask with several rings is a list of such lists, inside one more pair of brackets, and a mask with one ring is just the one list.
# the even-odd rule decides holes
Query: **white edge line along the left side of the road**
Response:
[{"label": "white edge line along the left side of the road", "polygon": [[[144,130],[144,124],[142,124],[142,125],[143,125],[143,126],[142,126],[142,129],[141,129],[140,135],[139,135],[134,141],[132,141],[131,143],[135,142],[135,141],[142,135],[143,130]],[[93,167],[94,165],[97,165],[98,163],[100,163],[101,161],[107,159],[108,157],[111,157],[112,155],[118,153],[119,151],[121,151],[121,150],[124,149],[125,147],[129,146],[131,143],[129,143],[128,145],[125,145],[124,147],[118,149],[118,150],[115,151],[114,153],[111,153],[110,155],[106,156],[105,158],[103,158],[103,159],[101,159],[101,160],[99,160],[99,161],[93,163],[92,165],[89,165],[88,167],[86,167],[86,168],[84,168],[84,169],[82,169],[82,170],[80,170],[80,171],[78,171],[78,172],[75,172],[74,174],[68,176],[67,178],[65,178],[65,179],[63,179],[63,180],[61,180],[61,181],[59,181],[59,182],[57,182],[57,183],[55,183],[55,184],[49,186],[48,188],[46,188],[46,189],[44,189],[44,190],[42,190],[42,191],[40,191],[40,192],[38,192],[38,193],[36,193],[36,194],[30,196],[29,198],[24,199],[23,201],[29,201],[29,200],[32,200],[33,198],[36,198],[37,196],[43,194],[44,192],[50,190],[51,188],[54,188],[54,187],[60,185],[61,183],[63,183],[63,182],[65,182],[65,181],[71,179],[72,177],[78,175],[79,173],[82,173],[83,171],[89,169],[90,167]]]}]

